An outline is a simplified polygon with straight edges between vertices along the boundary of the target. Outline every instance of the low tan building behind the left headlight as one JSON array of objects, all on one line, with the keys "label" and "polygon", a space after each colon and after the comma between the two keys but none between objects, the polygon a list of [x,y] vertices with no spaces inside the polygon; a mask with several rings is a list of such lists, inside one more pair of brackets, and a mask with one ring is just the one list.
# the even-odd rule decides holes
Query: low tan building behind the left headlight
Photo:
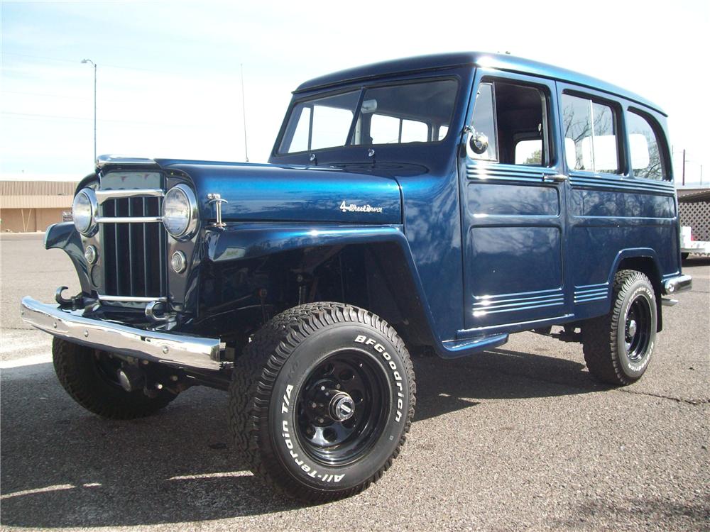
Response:
[{"label": "low tan building behind the left headlight", "polygon": [[76,187],[66,181],[0,181],[0,231],[45,231],[71,219]]}]

